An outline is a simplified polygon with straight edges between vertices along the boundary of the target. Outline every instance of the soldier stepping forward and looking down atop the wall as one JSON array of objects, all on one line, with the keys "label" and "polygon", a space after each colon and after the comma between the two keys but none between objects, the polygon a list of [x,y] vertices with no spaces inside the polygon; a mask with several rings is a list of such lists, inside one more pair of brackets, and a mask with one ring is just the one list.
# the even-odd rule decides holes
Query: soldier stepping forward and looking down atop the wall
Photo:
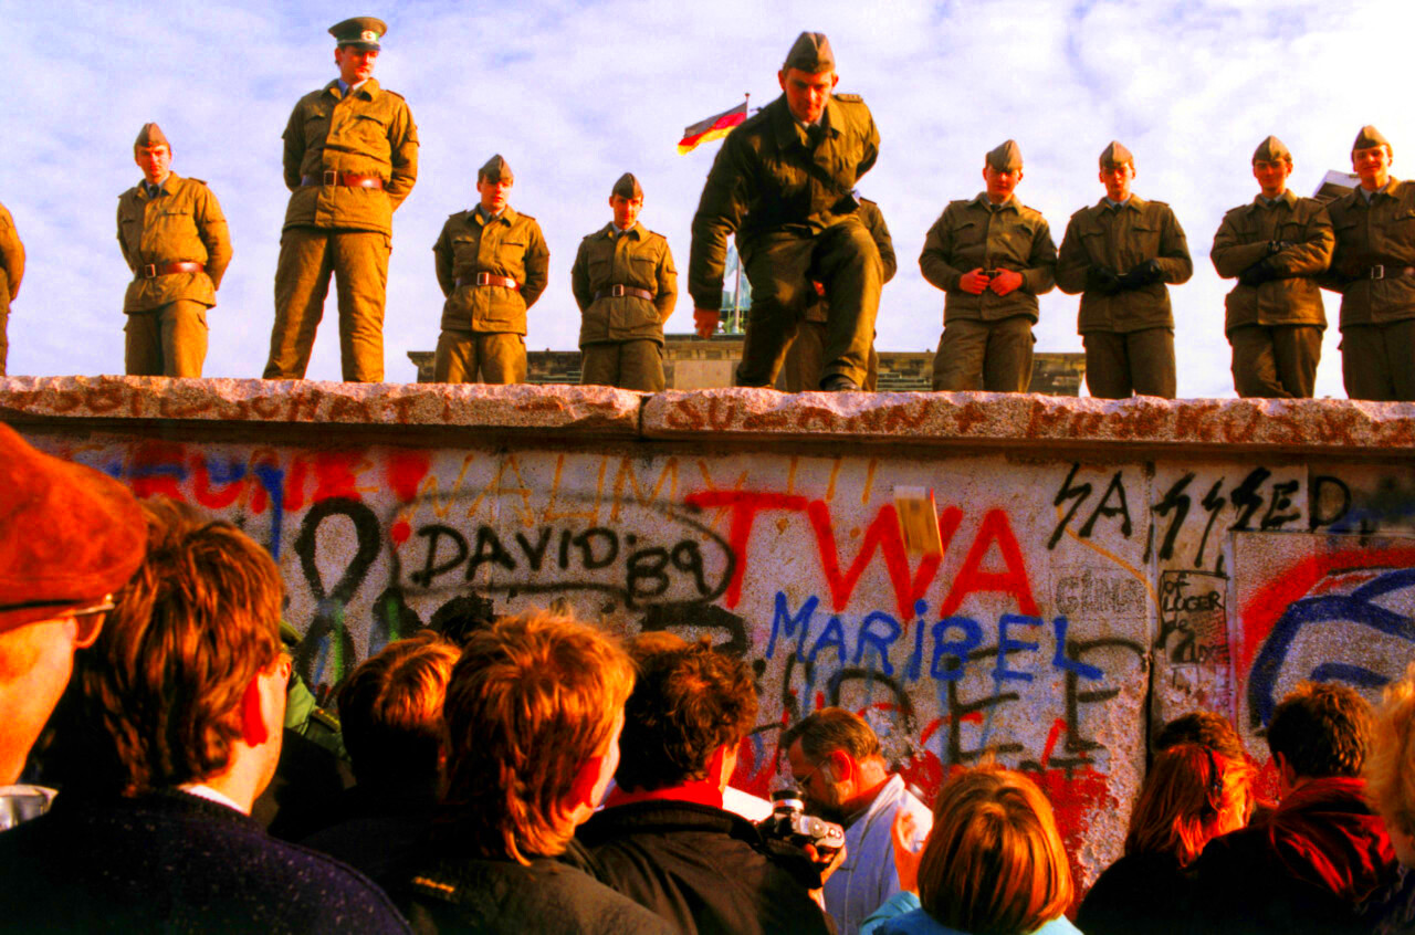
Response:
[{"label": "soldier stepping forward and looking down atop the wall", "polygon": [[693,216],[689,291],[698,332],[717,327],[727,236],[751,283],[739,386],[770,386],[815,289],[829,303],[821,388],[866,379],[882,267],[852,190],[879,157],[879,132],[857,95],[833,95],[835,54],[802,33],[777,74],[782,95],[723,141]]}]

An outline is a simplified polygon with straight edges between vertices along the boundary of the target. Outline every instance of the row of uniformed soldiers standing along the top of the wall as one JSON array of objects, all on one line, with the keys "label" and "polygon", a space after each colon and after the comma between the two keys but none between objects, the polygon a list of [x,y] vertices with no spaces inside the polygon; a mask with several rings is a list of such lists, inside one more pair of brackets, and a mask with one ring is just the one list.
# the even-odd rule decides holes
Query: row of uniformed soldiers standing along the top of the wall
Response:
[{"label": "row of uniformed soldiers standing along the top of the wall", "polygon": [[[331,277],[345,381],[383,379],[383,304],[393,211],[417,180],[408,102],[374,78],[388,27],[354,17],[330,27],[338,78],[294,106],[284,129],[289,208],[275,273],[275,324],[263,376],[303,379]],[[781,96],[746,117],[713,161],[692,221],[688,293],[698,334],[719,327],[727,240],[751,286],[737,386],[872,389],[880,290],[896,269],[879,207],[859,195],[879,157],[869,108],[839,82],[829,40],[802,33],[777,75]],[[743,115],[744,116],[744,115]],[[1394,150],[1365,126],[1351,146],[1357,184],[1323,204],[1288,188],[1293,158],[1275,136],[1252,156],[1258,195],[1230,211],[1211,259],[1235,280],[1224,332],[1240,396],[1310,397],[1327,325],[1322,290],[1341,297],[1341,364],[1351,399],[1415,400],[1415,185],[1391,175]],[[207,310],[231,262],[226,222],[205,182],[171,171],[156,123],[134,143],[143,180],[119,199],[117,235],[134,279],[123,303],[126,369],[201,376]],[[951,202],[918,259],[944,291],[935,390],[1026,392],[1037,296],[1077,294],[1085,379],[1095,397],[1174,397],[1169,287],[1193,274],[1173,209],[1132,191],[1135,156],[1099,157],[1105,195],[1071,215],[1060,250],[1022,204],[1022,150],[983,158],[985,190]],[[440,382],[526,378],[526,311],[548,284],[549,248],[509,205],[501,156],[477,171],[477,205],[451,215],[436,245],[446,297],[434,355]],[[668,240],[638,222],[644,188],[625,173],[611,221],[580,243],[572,291],[582,313],[582,382],[664,389],[664,323],[678,273]],[[24,249],[0,207],[0,375],[8,303]]]}]

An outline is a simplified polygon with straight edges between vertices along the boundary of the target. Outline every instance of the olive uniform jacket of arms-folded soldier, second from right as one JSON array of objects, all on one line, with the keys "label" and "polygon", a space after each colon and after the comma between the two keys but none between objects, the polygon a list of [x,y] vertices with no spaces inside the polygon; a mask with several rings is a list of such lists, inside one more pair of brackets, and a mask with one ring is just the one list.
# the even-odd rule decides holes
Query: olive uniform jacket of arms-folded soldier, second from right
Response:
[{"label": "olive uniform jacket of arms-folded soldier, second from right", "polygon": [[[1271,242],[1290,246],[1268,252]],[[1316,325],[1326,328],[1316,276],[1332,263],[1332,219],[1320,201],[1282,192],[1272,205],[1262,195],[1224,215],[1208,256],[1224,279],[1272,257],[1278,279],[1258,286],[1238,283],[1224,298],[1224,332],[1245,325]]]}]

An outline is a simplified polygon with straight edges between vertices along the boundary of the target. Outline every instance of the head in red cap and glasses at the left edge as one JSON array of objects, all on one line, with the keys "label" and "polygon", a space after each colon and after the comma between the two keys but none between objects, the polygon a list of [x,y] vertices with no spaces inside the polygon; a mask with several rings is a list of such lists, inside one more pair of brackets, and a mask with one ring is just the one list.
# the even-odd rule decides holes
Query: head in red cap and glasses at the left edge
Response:
[{"label": "head in red cap and glasses at the left edge", "polygon": [[20,778],[146,542],[127,488],[0,423],[0,785]]}]

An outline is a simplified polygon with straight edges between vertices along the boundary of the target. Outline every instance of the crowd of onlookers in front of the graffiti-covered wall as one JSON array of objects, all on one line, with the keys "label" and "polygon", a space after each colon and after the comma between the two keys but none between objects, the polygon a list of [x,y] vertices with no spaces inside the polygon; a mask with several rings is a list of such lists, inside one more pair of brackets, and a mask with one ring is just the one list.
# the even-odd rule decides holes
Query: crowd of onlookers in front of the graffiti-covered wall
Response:
[{"label": "crowd of onlookers in front of the graffiti-covered wall", "polygon": [[320,748],[348,788],[286,795],[318,781],[283,598],[232,523],[0,424],[0,931],[1415,932],[1415,665],[1378,710],[1292,690],[1275,802],[1227,719],[1165,724],[1084,891],[1027,775],[955,765],[930,809],[826,707],[763,802],[741,656],[548,610],[383,646]]}]

